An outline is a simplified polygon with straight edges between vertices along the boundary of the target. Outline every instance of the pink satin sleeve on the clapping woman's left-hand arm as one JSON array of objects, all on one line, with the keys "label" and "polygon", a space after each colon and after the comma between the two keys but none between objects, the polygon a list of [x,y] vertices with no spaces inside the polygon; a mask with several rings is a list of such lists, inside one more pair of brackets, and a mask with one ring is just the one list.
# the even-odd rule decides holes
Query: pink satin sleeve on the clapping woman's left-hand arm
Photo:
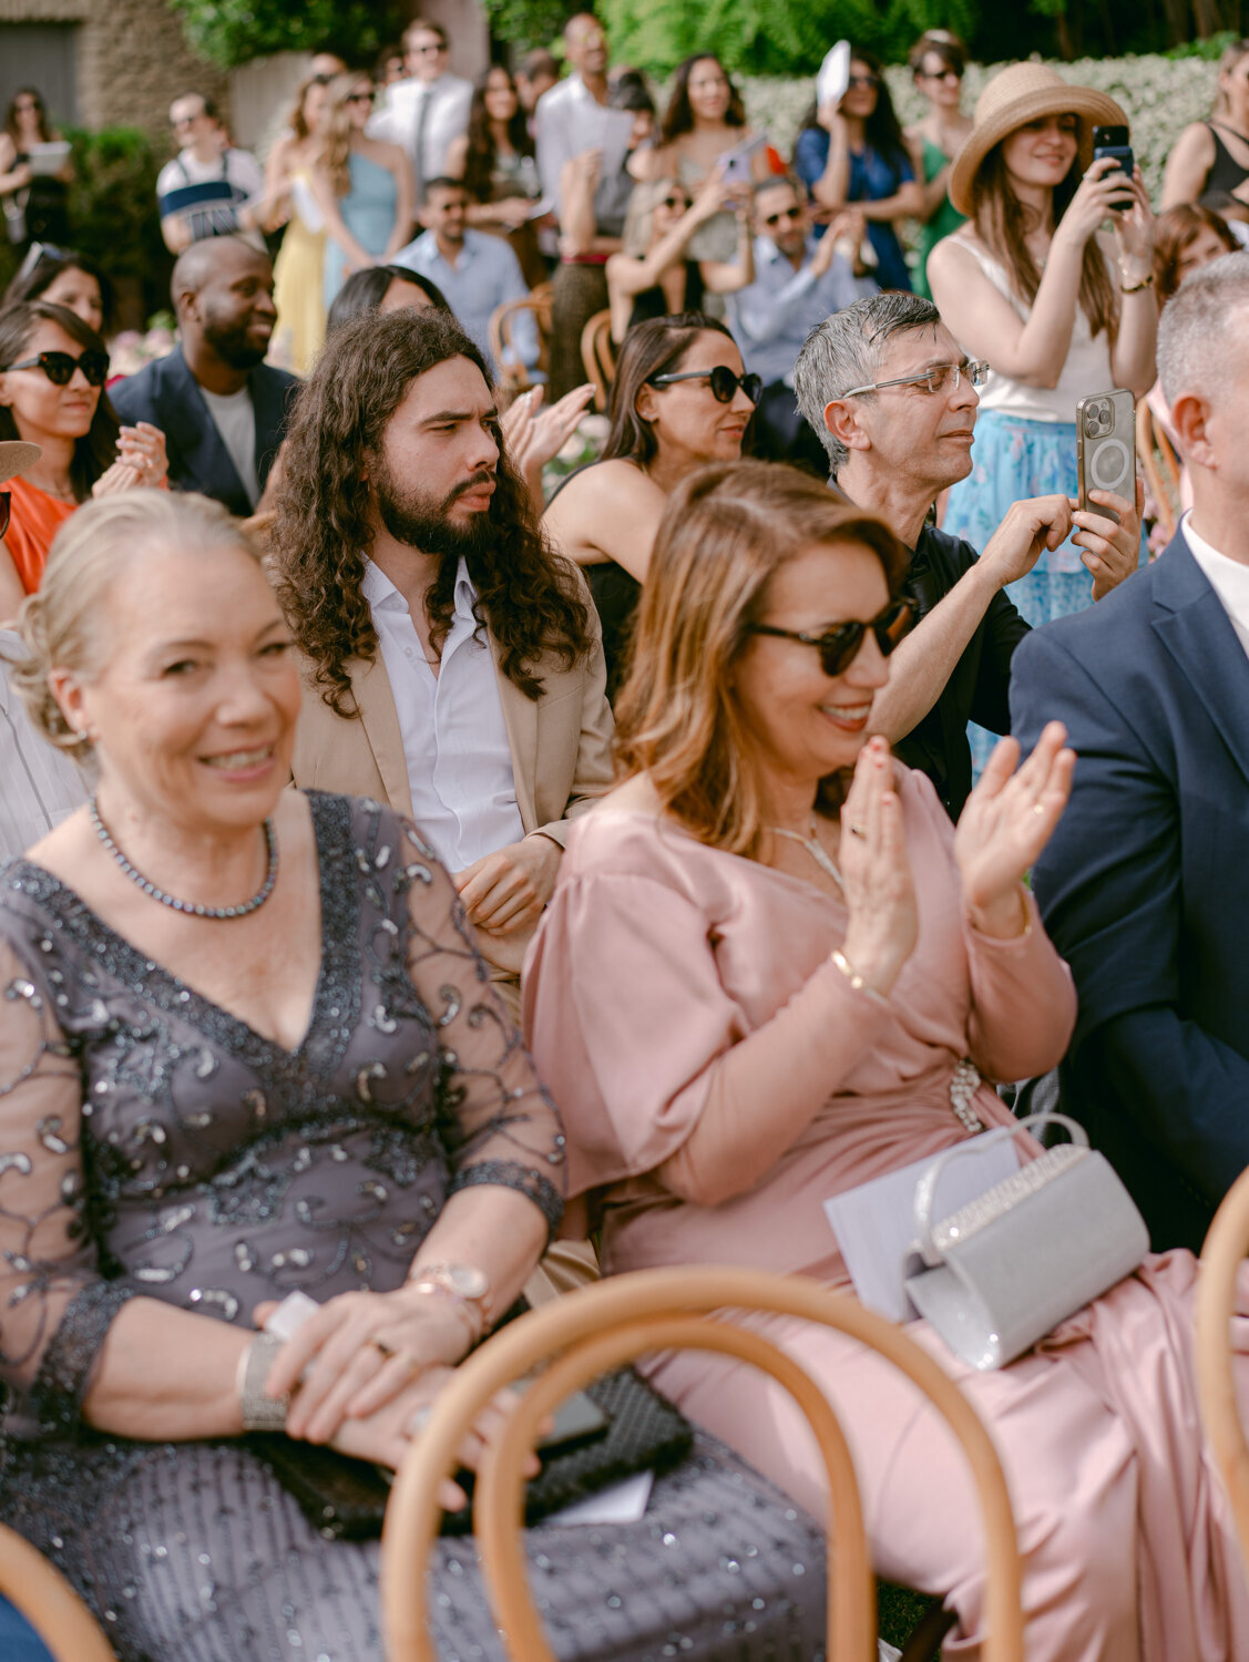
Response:
[{"label": "pink satin sleeve on the clapping woman's left-hand arm", "polygon": [[890,1020],[823,961],[748,1032],[705,914],[639,874],[560,881],[526,966],[526,1034],[564,1115],[570,1195],[654,1172],[703,1117],[713,1137],[690,1175],[718,1187],[723,1162],[753,1187]]}]

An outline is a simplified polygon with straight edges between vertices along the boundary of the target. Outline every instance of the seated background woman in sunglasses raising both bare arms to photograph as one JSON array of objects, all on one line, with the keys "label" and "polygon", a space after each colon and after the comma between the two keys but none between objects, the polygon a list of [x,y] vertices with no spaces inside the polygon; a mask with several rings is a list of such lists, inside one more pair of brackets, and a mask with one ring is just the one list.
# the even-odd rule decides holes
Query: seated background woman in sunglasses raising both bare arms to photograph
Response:
[{"label": "seated background woman in sunglasses raising both bare arms to photograph", "polygon": [[[690,241],[725,206],[737,218],[735,259],[692,259]],[[703,294],[735,294],[753,281],[747,196],[732,193],[718,168],[694,201],[675,178],[639,184],[629,203],[624,248],[607,261],[612,339],[619,346],[639,322],[702,311]]]}]

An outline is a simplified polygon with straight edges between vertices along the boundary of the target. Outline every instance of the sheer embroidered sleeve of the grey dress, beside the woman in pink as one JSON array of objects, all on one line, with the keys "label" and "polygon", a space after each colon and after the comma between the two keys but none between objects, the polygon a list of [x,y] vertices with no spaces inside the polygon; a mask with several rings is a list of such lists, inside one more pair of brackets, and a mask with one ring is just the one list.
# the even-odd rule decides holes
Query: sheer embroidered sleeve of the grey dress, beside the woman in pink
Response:
[{"label": "sheer embroidered sleeve of the grey dress, beside the woman in pink", "polygon": [[[384,856],[392,838],[399,846]],[[567,1187],[564,1127],[491,986],[451,878],[421,833],[391,814],[379,816],[369,858],[396,863],[391,884],[406,901],[407,977],[439,1049],[439,1124],[451,1157],[451,1192],[476,1183],[521,1190],[554,1233]]]}]

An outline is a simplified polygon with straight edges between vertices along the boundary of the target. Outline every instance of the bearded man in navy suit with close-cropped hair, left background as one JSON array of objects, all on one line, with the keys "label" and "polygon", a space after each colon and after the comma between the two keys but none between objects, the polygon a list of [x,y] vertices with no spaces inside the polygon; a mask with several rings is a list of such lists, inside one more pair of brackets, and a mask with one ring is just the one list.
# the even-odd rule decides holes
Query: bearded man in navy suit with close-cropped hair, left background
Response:
[{"label": "bearded man in navy suit with close-cropped hair, left background", "polygon": [[170,485],[246,519],[286,430],[284,369],[264,362],[278,311],[269,256],[236,236],[191,243],[173,268],[180,346],[110,389],[123,422],[165,434]]}]

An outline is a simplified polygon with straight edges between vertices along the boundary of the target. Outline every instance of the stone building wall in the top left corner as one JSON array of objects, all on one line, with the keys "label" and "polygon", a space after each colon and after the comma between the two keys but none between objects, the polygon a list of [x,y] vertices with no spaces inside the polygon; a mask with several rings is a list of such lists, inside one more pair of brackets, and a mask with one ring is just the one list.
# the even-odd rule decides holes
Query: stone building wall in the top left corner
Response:
[{"label": "stone building wall in the top left corner", "polygon": [[0,0],[5,23],[78,23],[78,118],[83,126],[143,126],[170,143],[170,101],[203,91],[228,115],[230,80],[198,58],[165,0]]}]

